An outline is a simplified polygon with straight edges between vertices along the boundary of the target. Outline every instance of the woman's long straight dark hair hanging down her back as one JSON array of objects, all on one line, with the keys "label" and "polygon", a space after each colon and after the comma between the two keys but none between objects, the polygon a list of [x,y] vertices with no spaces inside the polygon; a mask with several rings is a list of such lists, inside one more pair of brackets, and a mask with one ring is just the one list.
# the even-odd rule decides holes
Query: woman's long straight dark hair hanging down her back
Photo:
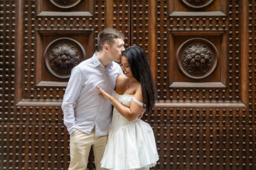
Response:
[{"label": "woman's long straight dark hair hanging down her back", "polygon": [[131,67],[132,76],[141,84],[143,104],[147,113],[155,105],[155,87],[146,53],[139,46],[129,46],[122,52]]}]

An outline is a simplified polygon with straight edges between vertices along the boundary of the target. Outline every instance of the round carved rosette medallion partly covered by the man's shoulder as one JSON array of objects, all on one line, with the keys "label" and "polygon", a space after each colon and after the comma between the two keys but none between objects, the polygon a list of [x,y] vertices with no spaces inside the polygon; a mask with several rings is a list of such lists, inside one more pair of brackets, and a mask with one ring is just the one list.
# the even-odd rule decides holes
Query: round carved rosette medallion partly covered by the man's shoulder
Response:
[{"label": "round carved rosette medallion partly covered by the man's shoulder", "polygon": [[83,46],[71,38],[59,38],[45,49],[47,69],[58,78],[69,78],[73,67],[85,58]]}]

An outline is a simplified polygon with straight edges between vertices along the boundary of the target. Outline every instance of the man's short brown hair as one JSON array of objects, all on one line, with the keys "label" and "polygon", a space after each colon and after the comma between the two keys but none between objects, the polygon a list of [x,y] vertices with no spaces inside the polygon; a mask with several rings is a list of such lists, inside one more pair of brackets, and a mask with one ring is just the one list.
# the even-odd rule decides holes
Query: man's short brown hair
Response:
[{"label": "man's short brown hair", "polygon": [[99,52],[103,50],[103,46],[106,44],[112,46],[115,42],[114,39],[116,38],[124,39],[124,34],[113,28],[106,28],[103,31],[100,31],[97,41]]}]

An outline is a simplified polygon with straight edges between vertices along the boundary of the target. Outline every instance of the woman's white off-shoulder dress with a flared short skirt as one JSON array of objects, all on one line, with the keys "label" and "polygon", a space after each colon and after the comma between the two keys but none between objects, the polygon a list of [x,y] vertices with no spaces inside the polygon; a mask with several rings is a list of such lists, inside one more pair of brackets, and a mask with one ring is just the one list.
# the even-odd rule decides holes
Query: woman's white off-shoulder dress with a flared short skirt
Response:
[{"label": "woman's white off-shoulder dress with a flared short skirt", "polygon": [[[142,106],[132,95],[113,96],[125,106],[133,100]],[[101,167],[111,170],[149,169],[159,159],[154,132],[143,120],[128,121],[115,108],[109,129],[108,144],[101,160]]]}]

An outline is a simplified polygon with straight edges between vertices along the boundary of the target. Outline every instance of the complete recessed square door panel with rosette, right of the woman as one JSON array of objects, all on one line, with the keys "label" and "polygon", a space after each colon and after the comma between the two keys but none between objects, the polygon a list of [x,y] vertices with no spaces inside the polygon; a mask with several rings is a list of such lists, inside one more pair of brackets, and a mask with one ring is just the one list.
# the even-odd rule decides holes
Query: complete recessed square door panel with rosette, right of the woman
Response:
[{"label": "complete recessed square door panel with rosette, right of the woman", "polygon": [[170,86],[225,87],[225,34],[180,33],[170,34]]}]

